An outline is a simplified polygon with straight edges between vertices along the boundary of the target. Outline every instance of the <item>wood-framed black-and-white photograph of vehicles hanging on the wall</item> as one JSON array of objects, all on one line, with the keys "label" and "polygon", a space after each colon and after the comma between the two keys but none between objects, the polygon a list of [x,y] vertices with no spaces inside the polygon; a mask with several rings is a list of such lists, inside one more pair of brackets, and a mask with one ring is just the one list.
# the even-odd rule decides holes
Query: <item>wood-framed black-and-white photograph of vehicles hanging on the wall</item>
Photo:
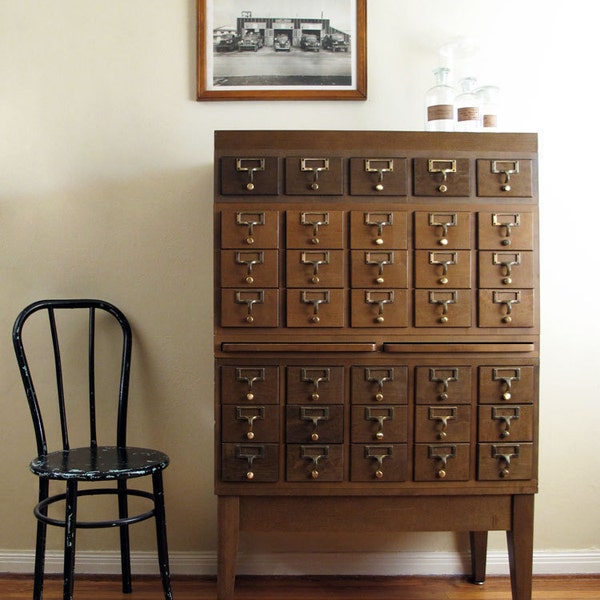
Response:
[{"label": "wood-framed black-and-white photograph of vehicles hanging on the wall", "polygon": [[198,100],[365,100],[367,0],[197,0]]}]

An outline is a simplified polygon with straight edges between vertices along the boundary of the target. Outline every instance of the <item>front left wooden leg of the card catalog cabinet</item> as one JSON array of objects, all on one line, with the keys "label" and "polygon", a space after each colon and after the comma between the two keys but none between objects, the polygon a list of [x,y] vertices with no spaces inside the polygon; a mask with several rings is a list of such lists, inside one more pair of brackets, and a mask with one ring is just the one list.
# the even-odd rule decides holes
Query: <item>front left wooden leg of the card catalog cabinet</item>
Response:
[{"label": "front left wooden leg of the card catalog cabinet", "polygon": [[219,496],[217,505],[217,599],[233,600],[235,566],[240,538],[239,496]]}]

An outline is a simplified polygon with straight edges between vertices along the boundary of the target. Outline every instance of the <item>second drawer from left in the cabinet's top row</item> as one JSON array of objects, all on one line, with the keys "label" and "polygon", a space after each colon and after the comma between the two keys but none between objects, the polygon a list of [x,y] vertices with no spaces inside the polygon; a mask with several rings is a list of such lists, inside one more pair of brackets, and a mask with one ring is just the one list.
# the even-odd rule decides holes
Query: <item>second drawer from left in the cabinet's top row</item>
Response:
[{"label": "second drawer from left in the cabinet's top row", "polygon": [[339,156],[289,156],[285,159],[285,192],[291,195],[339,196],[344,192]]}]

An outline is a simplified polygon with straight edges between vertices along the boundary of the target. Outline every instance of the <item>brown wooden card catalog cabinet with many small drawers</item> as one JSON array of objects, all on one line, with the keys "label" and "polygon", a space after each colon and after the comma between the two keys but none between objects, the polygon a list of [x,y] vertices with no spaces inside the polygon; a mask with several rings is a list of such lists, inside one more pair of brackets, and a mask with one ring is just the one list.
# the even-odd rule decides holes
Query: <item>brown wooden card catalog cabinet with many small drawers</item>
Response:
[{"label": "brown wooden card catalog cabinet with many small drawers", "polygon": [[507,532],[530,600],[534,134],[215,135],[218,597],[240,531]]}]

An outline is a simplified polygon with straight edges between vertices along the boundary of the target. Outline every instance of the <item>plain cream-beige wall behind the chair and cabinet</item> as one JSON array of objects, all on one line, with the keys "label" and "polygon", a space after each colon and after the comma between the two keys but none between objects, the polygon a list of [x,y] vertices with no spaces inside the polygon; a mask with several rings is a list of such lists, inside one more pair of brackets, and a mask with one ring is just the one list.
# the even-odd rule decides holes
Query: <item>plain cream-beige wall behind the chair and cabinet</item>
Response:
[{"label": "plain cream-beige wall behind the chair and cabinet", "polygon": [[[598,109],[584,60],[596,31],[588,3],[558,14],[555,4],[371,0],[368,101],[198,103],[193,0],[0,0],[0,551],[30,549],[34,534],[34,444],[10,328],[26,303],[50,296],[99,296],[130,316],[139,423],[130,440],[171,455],[171,549],[214,551],[213,130],[420,130],[436,48],[467,34],[490,44],[505,129],[540,133],[536,548],[598,549]],[[109,547],[102,536],[79,542]],[[150,530],[134,544],[152,549]],[[259,546],[304,544],[282,537]],[[383,550],[455,544],[441,534],[367,541]]]}]

